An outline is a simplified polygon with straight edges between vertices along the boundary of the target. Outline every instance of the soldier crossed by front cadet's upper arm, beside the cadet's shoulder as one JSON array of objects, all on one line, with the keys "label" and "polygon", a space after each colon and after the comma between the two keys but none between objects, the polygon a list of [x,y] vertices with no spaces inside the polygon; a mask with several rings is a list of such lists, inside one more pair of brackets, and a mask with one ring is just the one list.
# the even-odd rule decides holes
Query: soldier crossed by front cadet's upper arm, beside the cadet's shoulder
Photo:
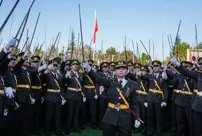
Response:
[{"label": "soldier crossed by front cadet's upper arm, beside the cadet's shoulder", "polygon": [[[109,79],[109,63],[108,62],[102,62],[100,64],[100,72],[98,72],[98,75],[100,77]],[[99,116],[99,128],[102,129],[103,128],[103,124],[102,124],[102,118],[105,114],[105,110],[107,108],[108,105],[108,91],[107,88],[102,86],[102,85],[98,85],[98,95],[99,95],[99,110],[98,110],[98,116]]]}]

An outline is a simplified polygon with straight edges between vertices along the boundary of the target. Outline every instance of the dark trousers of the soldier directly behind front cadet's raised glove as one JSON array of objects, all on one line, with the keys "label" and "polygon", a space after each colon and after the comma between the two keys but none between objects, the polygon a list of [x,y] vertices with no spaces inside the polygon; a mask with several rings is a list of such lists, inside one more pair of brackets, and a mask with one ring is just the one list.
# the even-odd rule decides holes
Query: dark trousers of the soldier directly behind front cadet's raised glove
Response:
[{"label": "dark trousers of the soldier directly behind front cadet's raised glove", "polygon": [[86,123],[88,122],[88,118],[90,118],[90,123],[93,125],[96,124],[96,102],[95,99],[87,99],[83,104],[81,109],[82,122]]}]

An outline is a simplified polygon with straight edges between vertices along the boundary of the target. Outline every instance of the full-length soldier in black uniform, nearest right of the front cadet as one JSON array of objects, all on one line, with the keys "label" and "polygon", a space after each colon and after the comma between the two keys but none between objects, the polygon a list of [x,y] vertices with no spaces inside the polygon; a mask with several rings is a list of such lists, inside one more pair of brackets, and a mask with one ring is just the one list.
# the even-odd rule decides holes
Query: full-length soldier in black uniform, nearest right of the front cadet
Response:
[{"label": "full-length soldier in black uniform, nearest right of the front cadet", "polygon": [[160,61],[152,61],[152,67],[152,74],[141,76],[149,82],[147,102],[145,103],[147,107],[147,135],[152,136],[156,126],[157,135],[162,136],[162,107],[166,106],[168,94],[167,75],[165,72],[160,72]]}]

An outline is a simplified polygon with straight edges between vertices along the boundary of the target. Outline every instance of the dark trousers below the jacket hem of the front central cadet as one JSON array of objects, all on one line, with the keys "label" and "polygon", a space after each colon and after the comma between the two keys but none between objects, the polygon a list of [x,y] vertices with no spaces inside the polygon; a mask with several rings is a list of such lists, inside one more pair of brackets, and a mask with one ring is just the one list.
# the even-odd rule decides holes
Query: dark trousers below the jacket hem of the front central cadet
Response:
[{"label": "dark trousers below the jacket hem of the front central cadet", "polygon": [[132,136],[132,128],[131,126],[118,127],[105,123],[103,136]]}]

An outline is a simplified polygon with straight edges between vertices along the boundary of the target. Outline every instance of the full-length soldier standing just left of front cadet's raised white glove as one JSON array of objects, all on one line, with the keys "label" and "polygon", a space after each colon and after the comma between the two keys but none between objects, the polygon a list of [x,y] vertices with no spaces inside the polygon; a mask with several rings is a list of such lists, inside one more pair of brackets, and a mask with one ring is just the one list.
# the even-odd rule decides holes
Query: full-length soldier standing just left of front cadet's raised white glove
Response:
[{"label": "full-length soldier standing just left of front cadet's raised white glove", "polygon": [[71,70],[65,74],[64,98],[67,100],[66,108],[66,134],[72,129],[80,132],[79,129],[79,113],[82,102],[86,101],[83,94],[83,75],[79,72],[79,61],[73,59],[71,61]]}]

